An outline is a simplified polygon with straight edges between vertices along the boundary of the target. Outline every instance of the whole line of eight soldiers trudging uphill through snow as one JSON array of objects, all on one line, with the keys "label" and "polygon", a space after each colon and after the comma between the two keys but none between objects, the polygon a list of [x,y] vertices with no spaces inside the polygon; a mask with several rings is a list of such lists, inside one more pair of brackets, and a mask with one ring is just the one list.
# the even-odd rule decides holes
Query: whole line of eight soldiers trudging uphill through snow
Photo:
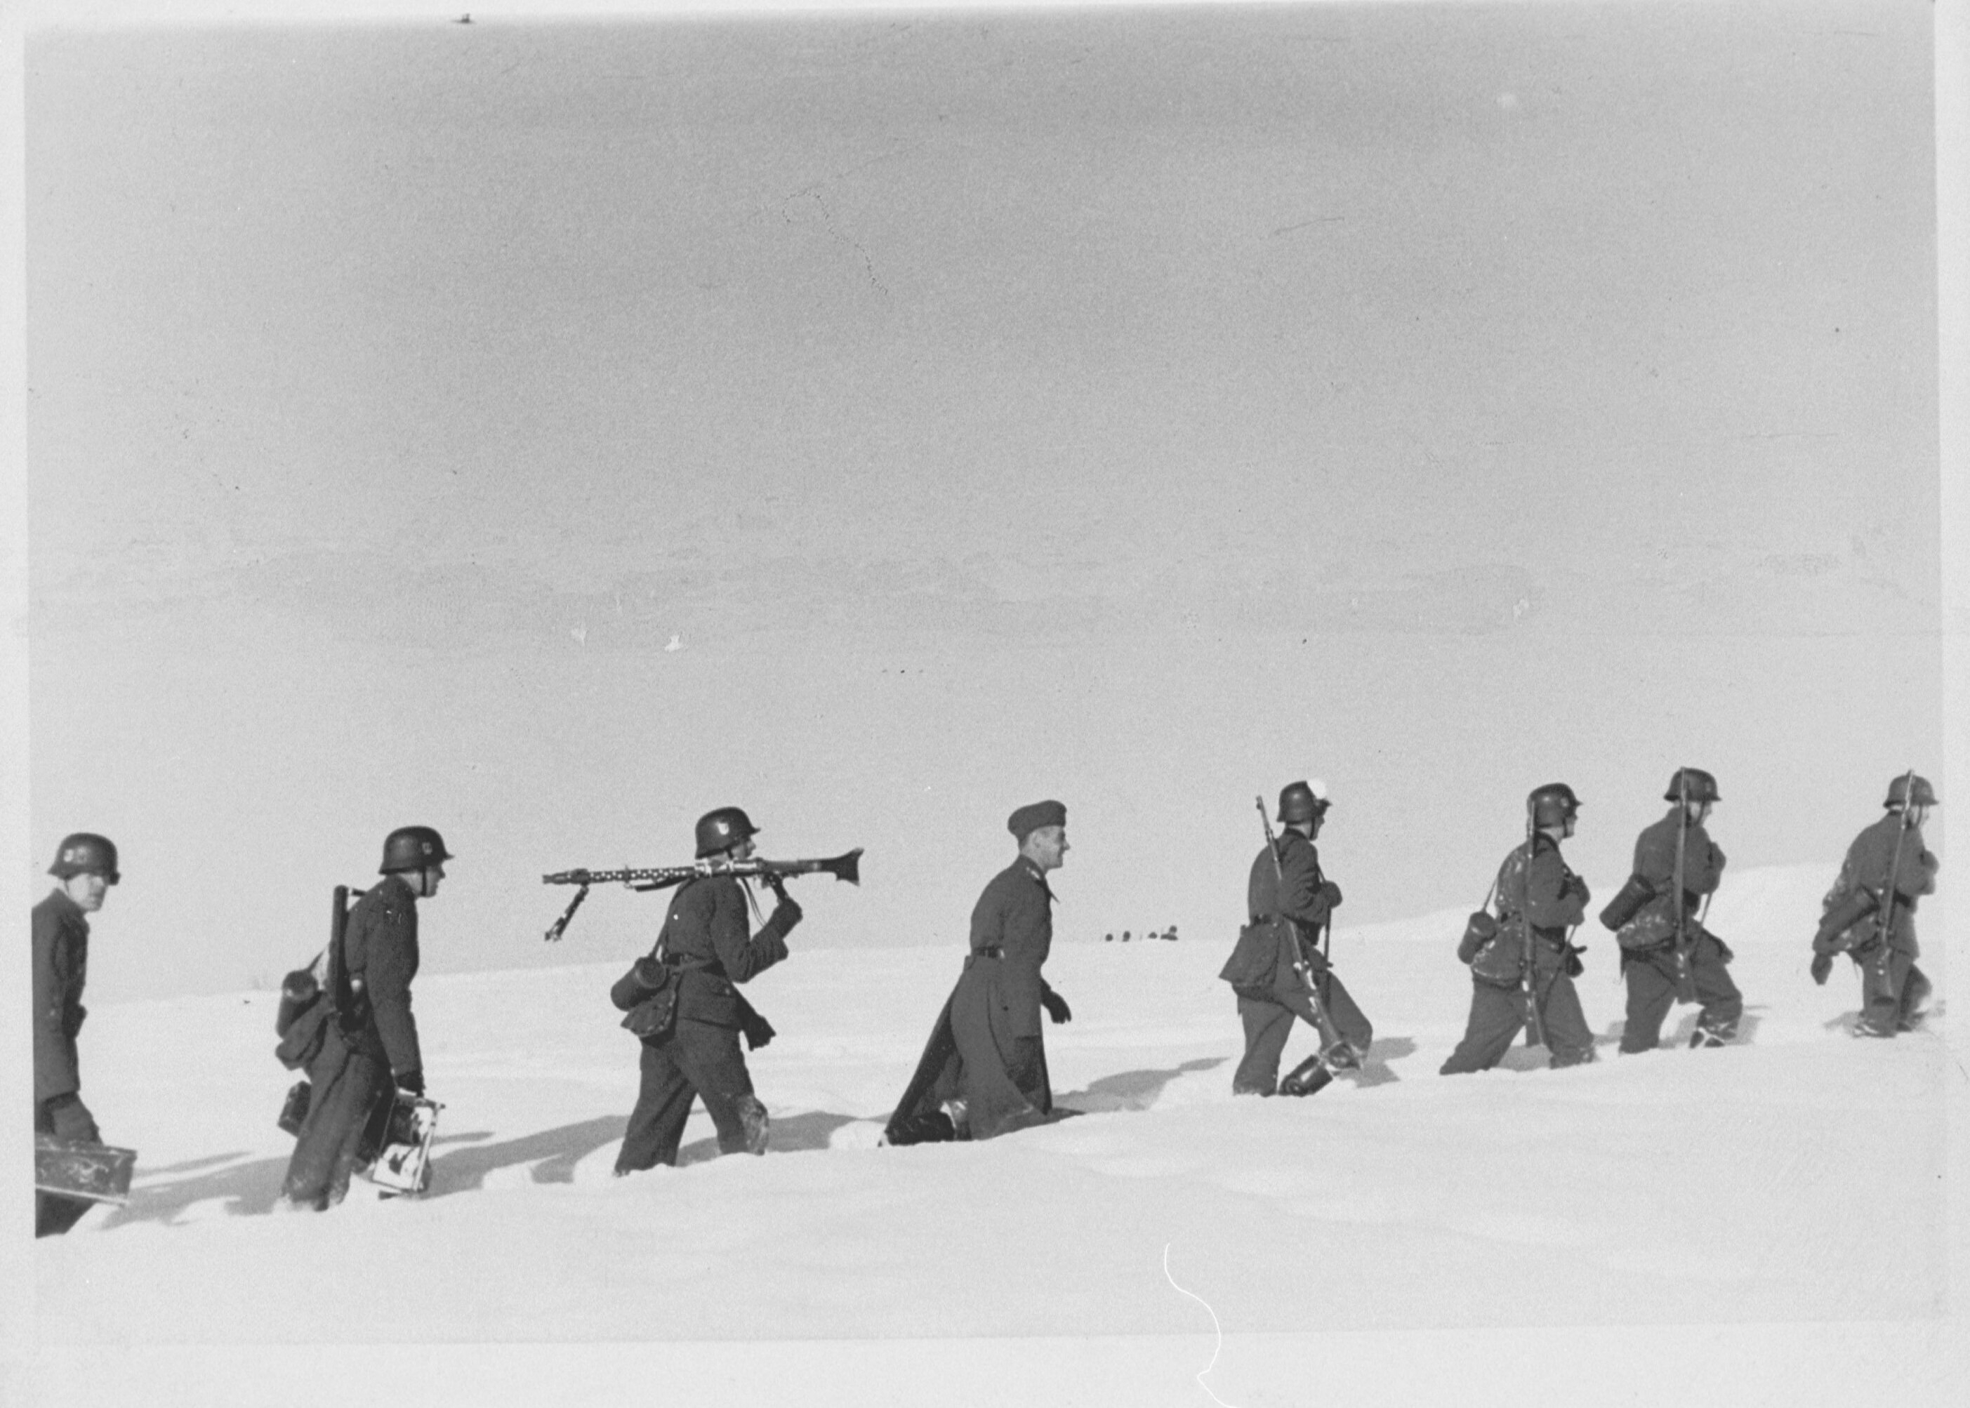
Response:
[{"label": "whole line of eight soldiers trudging uphill through snow", "polygon": [[[1637,837],[1633,872],[1600,916],[1615,931],[1627,981],[1623,1052],[1653,1050],[1676,1002],[1700,1006],[1690,1046],[1728,1044],[1743,1010],[1730,977],[1732,953],[1702,926],[1724,872],[1724,853],[1704,827],[1720,801],[1716,778],[1678,768],[1665,800],[1667,815]],[[1834,955],[1852,957],[1862,975],[1856,1036],[1887,1038],[1921,1022],[1931,985],[1915,967],[1915,908],[1935,890],[1937,859],[1923,845],[1933,805],[1937,796],[1925,778],[1895,778],[1881,819],[1848,847],[1826,894],[1812,977],[1826,983]],[[1316,847],[1328,807],[1322,786],[1288,784],[1279,794],[1280,833],[1273,837],[1269,827],[1267,847],[1251,866],[1251,922],[1221,973],[1245,1030],[1231,1081],[1237,1095],[1310,1095],[1336,1073],[1357,1069],[1373,1040],[1320,945],[1342,902]],[[1572,931],[1586,918],[1590,894],[1560,851],[1578,811],[1580,800],[1566,784],[1535,788],[1527,798],[1527,837],[1505,857],[1458,947],[1472,971],[1472,1008],[1444,1075],[1497,1065],[1527,1026],[1548,1048],[1552,1065],[1594,1059],[1594,1036],[1572,983],[1580,975]],[[1070,1113],[1054,1107],[1040,1026],[1042,1012],[1056,1024],[1072,1020],[1066,998],[1042,977],[1054,931],[1046,876],[1066,861],[1066,821],[1060,801],[1036,801],[1009,817],[1017,857],[971,910],[969,953],[888,1119],[886,1142],[993,1138]],[[656,945],[613,992],[628,1012],[624,1026],[640,1038],[640,1089],[617,1156],[619,1176],[674,1164],[697,1101],[717,1128],[721,1152],[766,1150],[766,1107],[753,1091],[741,1038],[756,1050],[772,1040],[772,1026],[739,985],[786,959],[786,937],[802,912],[766,872],[778,902],[756,928],[749,924],[751,892],[719,866],[749,861],[755,835],[758,829],[739,807],[699,817],[703,874],[678,888]],[[431,827],[392,831],[382,880],[349,910],[335,951],[323,955],[335,985],[335,1020],[313,1028],[305,1061],[311,1099],[296,1128],[284,1207],[339,1203],[351,1178],[374,1160],[382,1120],[398,1099],[424,1095],[410,1008],[418,902],[437,894],[451,859]],[[81,1099],[77,1034],[87,1016],[87,916],[102,908],[118,880],[116,847],[100,835],[71,835],[49,874],[57,886],[33,906],[33,1126],[37,1136],[97,1144],[100,1134]],[[282,998],[284,1032],[313,998],[292,979]],[[1318,1032],[1318,1050],[1279,1079],[1296,1022]],[[85,1199],[37,1191],[35,1233],[63,1233],[89,1207]]]}]

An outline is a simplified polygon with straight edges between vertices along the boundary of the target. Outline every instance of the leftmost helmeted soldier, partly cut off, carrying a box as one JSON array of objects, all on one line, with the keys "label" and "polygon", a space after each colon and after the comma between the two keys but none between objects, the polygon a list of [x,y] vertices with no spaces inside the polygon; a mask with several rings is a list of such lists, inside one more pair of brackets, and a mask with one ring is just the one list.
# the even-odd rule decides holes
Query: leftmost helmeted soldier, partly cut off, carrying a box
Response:
[{"label": "leftmost helmeted soldier, partly cut off, carrying a box", "polygon": [[[106,837],[79,831],[63,837],[55,864],[59,884],[32,912],[33,928],[33,1132],[100,1144],[97,1120],[83,1105],[83,1077],[75,1036],[89,1008],[89,920],[102,908],[108,886],[122,874],[116,847]],[[93,1207],[83,1197],[33,1195],[33,1235],[57,1237]]]}]

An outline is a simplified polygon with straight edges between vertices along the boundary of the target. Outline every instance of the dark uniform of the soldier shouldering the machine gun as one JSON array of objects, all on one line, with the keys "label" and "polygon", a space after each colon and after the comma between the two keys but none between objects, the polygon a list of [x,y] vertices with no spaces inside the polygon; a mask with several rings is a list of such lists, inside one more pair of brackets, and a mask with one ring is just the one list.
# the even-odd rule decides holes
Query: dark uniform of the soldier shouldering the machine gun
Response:
[{"label": "dark uniform of the soldier shouldering the machine gun", "polygon": [[[739,1034],[764,1044],[772,1028],[733,985],[782,961],[786,935],[798,922],[800,906],[786,902],[747,937],[745,888],[729,874],[686,880],[672,896],[662,945],[666,965],[678,971],[678,1022],[676,1030],[642,1042],[636,1107],[623,1132],[617,1174],[676,1164],[693,1099],[705,1103],[721,1154],[745,1152],[753,1130],[764,1130],[766,1107],[753,1093]],[[766,1036],[756,1036],[758,1030]]]}]

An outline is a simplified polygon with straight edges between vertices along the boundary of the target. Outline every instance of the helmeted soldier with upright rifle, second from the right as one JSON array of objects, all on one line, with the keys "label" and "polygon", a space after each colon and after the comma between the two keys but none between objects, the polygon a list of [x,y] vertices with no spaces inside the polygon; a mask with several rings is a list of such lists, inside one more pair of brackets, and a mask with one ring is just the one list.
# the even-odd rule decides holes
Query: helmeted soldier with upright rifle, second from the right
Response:
[{"label": "helmeted soldier with upright rifle, second from the right", "polygon": [[1720,801],[1716,778],[1678,768],[1663,800],[1674,805],[1635,839],[1633,874],[1602,912],[1627,979],[1625,1054],[1655,1050],[1674,1002],[1702,1004],[1690,1046],[1724,1046],[1743,1016],[1743,996],[1726,969],[1732,953],[1698,922],[1698,906],[1724,874],[1724,853],[1704,831]]}]

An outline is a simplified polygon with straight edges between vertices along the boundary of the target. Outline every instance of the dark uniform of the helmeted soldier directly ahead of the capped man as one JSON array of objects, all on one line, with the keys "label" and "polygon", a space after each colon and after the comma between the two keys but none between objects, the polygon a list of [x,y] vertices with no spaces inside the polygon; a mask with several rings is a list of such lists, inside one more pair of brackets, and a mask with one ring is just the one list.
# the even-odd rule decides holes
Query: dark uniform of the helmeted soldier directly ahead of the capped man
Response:
[{"label": "dark uniform of the helmeted soldier directly ahead of the capped man", "polygon": [[[1367,1054],[1375,1028],[1318,949],[1320,929],[1334,912],[1336,888],[1320,870],[1320,849],[1310,837],[1288,829],[1275,849],[1265,847],[1245,880],[1245,912],[1253,924],[1282,918],[1292,922],[1298,957],[1308,965],[1320,1002],[1353,1059]],[[1292,955],[1286,955],[1290,963]],[[1231,1073],[1235,1095],[1271,1095],[1279,1085],[1279,1061],[1292,1034],[1294,1018],[1318,1030],[1314,1004],[1294,987],[1239,989],[1237,1014],[1245,1028],[1245,1056]]]}]

